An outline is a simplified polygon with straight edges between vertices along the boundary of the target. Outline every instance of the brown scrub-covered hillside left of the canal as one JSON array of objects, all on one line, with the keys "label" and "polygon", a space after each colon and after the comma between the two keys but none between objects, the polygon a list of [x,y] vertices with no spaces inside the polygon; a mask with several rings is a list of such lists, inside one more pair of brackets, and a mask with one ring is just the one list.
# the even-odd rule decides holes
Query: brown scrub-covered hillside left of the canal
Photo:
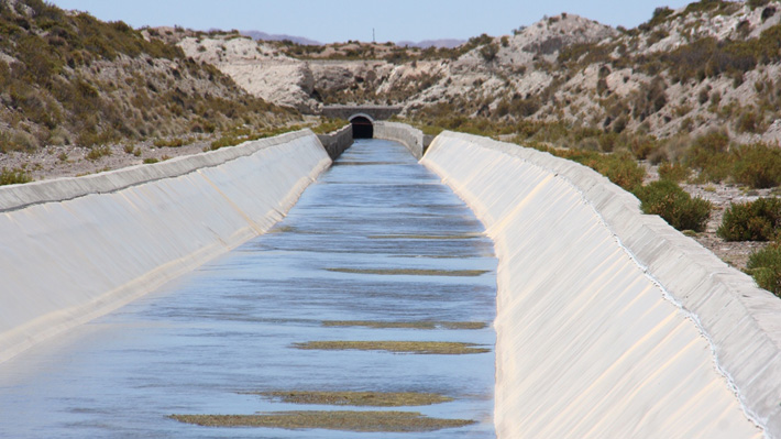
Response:
[{"label": "brown scrub-covered hillside left of the canal", "polygon": [[264,127],[297,116],[156,31],[0,0],[0,152]]}]

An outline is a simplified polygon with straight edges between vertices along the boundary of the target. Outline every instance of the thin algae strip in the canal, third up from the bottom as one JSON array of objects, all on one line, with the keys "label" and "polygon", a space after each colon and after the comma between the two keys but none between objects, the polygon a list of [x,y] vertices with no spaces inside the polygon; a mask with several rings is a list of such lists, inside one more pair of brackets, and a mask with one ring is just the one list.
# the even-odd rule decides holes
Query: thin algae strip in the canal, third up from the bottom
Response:
[{"label": "thin algae strip in the canal, third up from the bottom", "polygon": [[296,349],[328,351],[387,351],[395,353],[463,355],[491,352],[474,343],[454,341],[308,341],[294,343]]}]

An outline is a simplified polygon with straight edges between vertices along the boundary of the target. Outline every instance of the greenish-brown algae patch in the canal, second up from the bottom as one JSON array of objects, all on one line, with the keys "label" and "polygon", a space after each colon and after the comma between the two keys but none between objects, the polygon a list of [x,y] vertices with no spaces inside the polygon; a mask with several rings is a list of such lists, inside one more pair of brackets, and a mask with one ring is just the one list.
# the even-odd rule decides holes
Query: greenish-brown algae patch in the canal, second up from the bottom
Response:
[{"label": "greenish-brown algae patch in the canal, second up from the bottom", "polygon": [[428,406],[453,400],[436,393],[418,392],[249,392],[248,395],[261,395],[287,404],[314,404],[358,407],[403,407]]}]

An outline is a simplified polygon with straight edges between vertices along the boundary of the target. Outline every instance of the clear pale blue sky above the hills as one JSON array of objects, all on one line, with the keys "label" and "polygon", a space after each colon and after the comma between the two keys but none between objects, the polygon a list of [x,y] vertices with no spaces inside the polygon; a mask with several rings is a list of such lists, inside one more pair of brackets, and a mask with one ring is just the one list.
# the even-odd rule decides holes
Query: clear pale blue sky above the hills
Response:
[{"label": "clear pale blue sky above the hills", "polygon": [[543,15],[570,12],[634,28],[658,7],[685,0],[54,0],[133,28],[178,24],[196,30],[238,29],[305,36],[323,43],[461,39],[509,34]]}]

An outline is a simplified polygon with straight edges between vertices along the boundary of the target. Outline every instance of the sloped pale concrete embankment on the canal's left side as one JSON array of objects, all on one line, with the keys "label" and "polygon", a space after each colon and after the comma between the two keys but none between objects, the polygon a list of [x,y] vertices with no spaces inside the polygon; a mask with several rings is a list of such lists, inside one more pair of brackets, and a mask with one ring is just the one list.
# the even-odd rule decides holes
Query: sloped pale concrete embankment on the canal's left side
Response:
[{"label": "sloped pale concrete embankment on the canal's left side", "polygon": [[0,361],[265,232],[330,164],[306,130],[0,188]]}]

